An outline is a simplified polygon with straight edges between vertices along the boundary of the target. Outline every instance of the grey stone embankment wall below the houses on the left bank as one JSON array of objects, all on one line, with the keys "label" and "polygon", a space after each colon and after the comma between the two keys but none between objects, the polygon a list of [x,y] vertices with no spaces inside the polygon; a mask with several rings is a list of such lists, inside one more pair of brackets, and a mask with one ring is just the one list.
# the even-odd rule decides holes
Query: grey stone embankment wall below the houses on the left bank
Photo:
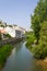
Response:
[{"label": "grey stone embankment wall below the houses on the left bank", "polygon": [[23,38],[10,38],[10,39],[0,40],[0,46],[3,46],[5,44],[16,44],[21,42],[22,39]]}]

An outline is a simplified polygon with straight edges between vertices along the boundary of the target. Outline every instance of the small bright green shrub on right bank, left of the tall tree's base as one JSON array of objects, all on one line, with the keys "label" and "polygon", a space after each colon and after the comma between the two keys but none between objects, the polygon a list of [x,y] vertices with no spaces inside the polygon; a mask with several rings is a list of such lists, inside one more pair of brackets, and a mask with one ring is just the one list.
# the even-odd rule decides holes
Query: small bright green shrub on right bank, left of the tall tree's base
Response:
[{"label": "small bright green shrub on right bank, left of the tall tree's base", "polygon": [[34,33],[28,33],[27,34],[27,37],[26,37],[26,46],[27,48],[32,48],[32,45],[34,44],[34,40],[35,40],[35,36],[34,36]]}]

